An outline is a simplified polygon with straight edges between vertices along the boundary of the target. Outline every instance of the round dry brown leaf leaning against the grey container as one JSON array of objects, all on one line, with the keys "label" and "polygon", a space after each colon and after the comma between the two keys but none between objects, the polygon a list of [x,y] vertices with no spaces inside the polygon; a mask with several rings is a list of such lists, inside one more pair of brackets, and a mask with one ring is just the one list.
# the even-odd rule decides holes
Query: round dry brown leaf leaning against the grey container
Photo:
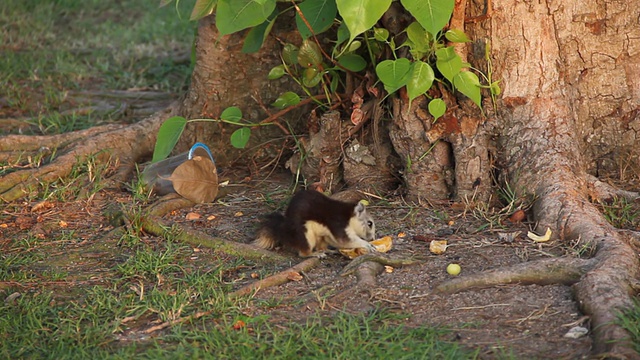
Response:
[{"label": "round dry brown leaf leaning against the grey container", "polygon": [[208,203],[218,194],[216,165],[208,157],[194,156],[180,164],[168,178],[180,196],[195,203]]}]

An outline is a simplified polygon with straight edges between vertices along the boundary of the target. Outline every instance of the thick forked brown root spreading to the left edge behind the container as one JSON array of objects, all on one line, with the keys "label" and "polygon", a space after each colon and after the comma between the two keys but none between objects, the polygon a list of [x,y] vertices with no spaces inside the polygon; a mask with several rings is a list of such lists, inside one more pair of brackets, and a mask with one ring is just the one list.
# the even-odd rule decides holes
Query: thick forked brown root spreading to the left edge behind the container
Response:
[{"label": "thick forked brown root spreading to the left edge behind the container", "polygon": [[[42,183],[50,183],[67,176],[73,167],[86,161],[90,156],[98,156],[99,161],[116,159],[125,165],[112,181],[123,181],[125,174],[137,160],[153,151],[156,134],[162,122],[177,113],[178,103],[166,110],[138,123],[122,126],[105,126],[87,129],[71,134],[53,136],[12,135],[0,138],[0,151],[33,151],[43,146],[56,149],[57,157],[49,164],[29,170],[21,170],[5,175],[0,184],[0,200],[11,202],[31,193]],[[27,145],[29,144],[29,145]],[[11,159],[9,155],[7,158]]]}]

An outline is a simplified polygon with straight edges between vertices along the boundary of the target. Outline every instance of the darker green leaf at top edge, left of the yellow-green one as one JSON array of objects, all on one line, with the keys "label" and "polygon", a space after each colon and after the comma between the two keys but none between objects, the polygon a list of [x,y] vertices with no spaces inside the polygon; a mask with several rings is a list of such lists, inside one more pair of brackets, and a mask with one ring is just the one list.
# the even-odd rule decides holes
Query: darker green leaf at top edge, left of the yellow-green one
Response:
[{"label": "darker green leaf at top edge, left of the yellow-green one", "polygon": [[311,25],[311,30],[304,23],[300,14],[296,13],[296,25],[302,39],[327,31],[333,24],[338,9],[335,0],[305,0],[299,5],[300,11]]}]

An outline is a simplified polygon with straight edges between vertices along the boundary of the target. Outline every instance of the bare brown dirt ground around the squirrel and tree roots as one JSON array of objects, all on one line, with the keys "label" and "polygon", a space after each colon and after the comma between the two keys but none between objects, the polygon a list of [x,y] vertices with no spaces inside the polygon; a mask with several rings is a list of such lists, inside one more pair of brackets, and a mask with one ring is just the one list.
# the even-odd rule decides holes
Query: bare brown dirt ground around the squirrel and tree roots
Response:
[{"label": "bare brown dirt ground around the squirrel and tree roots", "polygon": [[[245,180],[230,186],[215,203],[195,205],[174,211],[165,219],[184,227],[198,229],[211,236],[239,242],[250,242],[260,216],[286,204],[291,181]],[[449,279],[446,267],[458,263],[459,276],[494,269],[511,264],[567,255],[571,249],[556,243],[536,244],[525,236],[528,224],[508,224],[500,229],[485,228],[470,212],[454,211],[451,207],[435,209],[410,204],[402,198],[370,198],[370,212],[376,219],[378,237],[393,237],[389,256],[414,258],[417,264],[390,269],[377,278],[377,286],[354,290],[356,278],[342,277],[340,272],[350,260],[339,254],[322,259],[320,265],[304,272],[303,278],[287,284],[262,289],[257,299],[277,299],[275,307],[256,308],[255,314],[266,313],[274,322],[300,320],[318,311],[347,311],[352,313],[385,308],[406,314],[409,326],[446,326],[453,329],[451,341],[471,348],[480,348],[481,358],[548,358],[580,359],[589,355],[589,336],[578,339],[565,337],[576,325],[588,327],[573,300],[571,289],[562,285],[520,286],[506,285],[467,291],[453,295],[435,295],[434,287]],[[38,272],[64,271],[65,279],[34,283],[35,287],[68,290],[73,296],[74,286],[109,282],[113,268],[128,256],[117,245],[118,235],[105,216],[114,204],[130,207],[131,196],[126,191],[103,190],[89,200],[73,202],[49,201],[14,203],[5,206],[0,214],[0,251],[16,251],[28,237],[51,246],[46,259],[32,268]],[[38,208],[40,206],[40,208]],[[187,220],[188,213],[201,217]],[[521,234],[513,241],[501,240],[500,233]],[[60,234],[67,234],[60,236]],[[52,240],[47,244],[46,239]],[[447,240],[449,248],[442,255],[429,251],[431,240]],[[143,236],[149,243],[164,241]],[[193,249],[193,265],[202,270],[212,266],[214,254],[208,249]],[[219,257],[218,257],[219,259]],[[241,266],[228,273],[227,280],[239,288],[261,274],[286,269],[300,259],[279,267],[259,269]],[[9,286],[23,286],[5,282],[0,292]],[[65,291],[60,291],[64,296]]]}]

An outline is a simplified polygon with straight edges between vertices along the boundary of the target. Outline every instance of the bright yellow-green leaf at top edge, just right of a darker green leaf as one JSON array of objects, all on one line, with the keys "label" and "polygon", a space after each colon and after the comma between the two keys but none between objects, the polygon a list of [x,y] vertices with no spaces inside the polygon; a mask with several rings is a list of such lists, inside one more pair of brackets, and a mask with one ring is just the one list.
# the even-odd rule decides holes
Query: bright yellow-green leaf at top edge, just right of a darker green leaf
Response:
[{"label": "bright yellow-green leaf at top edge, just right of a darker green leaf", "polygon": [[338,12],[349,29],[349,42],[369,30],[391,6],[391,0],[336,0]]}]

